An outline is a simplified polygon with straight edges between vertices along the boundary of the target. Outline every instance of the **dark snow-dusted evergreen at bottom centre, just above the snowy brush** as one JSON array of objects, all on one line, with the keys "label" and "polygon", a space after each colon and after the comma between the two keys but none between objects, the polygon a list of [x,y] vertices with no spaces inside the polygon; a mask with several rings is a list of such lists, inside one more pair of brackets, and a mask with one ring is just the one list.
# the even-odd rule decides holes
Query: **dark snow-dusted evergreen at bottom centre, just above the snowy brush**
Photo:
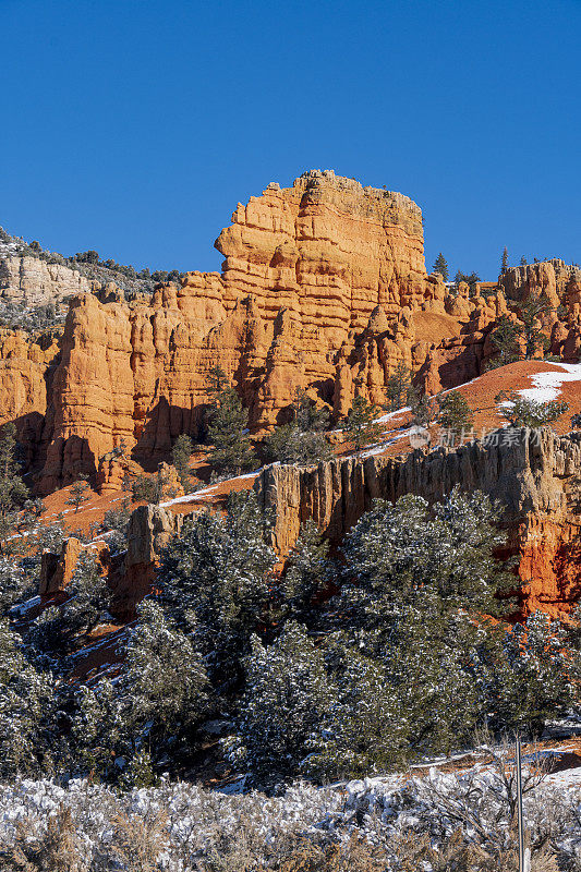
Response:
[{"label": "dark snow-dusted evergreen at bottom centre, just above the snowy brush", "polygon": [[253,637],[245,678],[235,738],[225,746],[230,760],[247,767],[254,782],[271,786],[296,774],[336,690],[322,652],[293,621],[269,647]]}]

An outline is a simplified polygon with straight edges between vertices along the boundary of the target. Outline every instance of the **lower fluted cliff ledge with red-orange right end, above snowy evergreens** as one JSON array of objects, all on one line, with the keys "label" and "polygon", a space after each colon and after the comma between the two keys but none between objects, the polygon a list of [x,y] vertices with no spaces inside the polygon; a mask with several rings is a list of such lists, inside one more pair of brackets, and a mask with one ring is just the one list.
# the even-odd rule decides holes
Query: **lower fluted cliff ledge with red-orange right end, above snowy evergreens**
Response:
[{"label": "lower fluted cliff ledge with red-orange right end, above snowy evergreens", "polygon": [[306,469],[267,467],[255,491],[274,518],[271,544],[288,554],[307,519],[339,543],[377,497],[395,501],[416,494],[434,501],[455,485],[479,488],[504,507],[525,585],[523,610],[562,615],[581,597],[581,434],[511,433],[498,444],[473,441],[456,450],[336,459]]}]

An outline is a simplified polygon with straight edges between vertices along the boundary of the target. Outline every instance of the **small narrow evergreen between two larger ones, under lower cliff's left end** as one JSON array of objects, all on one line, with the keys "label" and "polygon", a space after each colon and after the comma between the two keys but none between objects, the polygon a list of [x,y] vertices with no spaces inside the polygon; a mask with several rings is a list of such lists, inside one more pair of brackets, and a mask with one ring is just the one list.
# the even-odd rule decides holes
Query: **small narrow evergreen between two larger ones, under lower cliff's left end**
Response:
[{"label": "small narrow evergreen between two larger ones, under lower cliff's left end", "polygon": [[328,586],[330,562],[329,542],[314,521],[301,526],[282,577],[286,610],[296,620],[305,620],[313,610],[314,600]]}]

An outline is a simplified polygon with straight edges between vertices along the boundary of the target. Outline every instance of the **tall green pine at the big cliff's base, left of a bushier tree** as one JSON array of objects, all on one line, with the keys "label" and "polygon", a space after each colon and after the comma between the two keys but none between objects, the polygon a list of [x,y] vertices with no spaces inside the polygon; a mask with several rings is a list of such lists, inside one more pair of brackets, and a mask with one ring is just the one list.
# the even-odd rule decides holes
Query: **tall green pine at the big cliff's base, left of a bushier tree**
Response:
[{"label": "tall green pine at the big cliff's base, left of a bushier tree", "polygon": [[238,475],[256,463],[246,431],[249,413],[232,387],[214,395],[209,412],[208,437],[214,445],[210,463],[218,470]]}]

